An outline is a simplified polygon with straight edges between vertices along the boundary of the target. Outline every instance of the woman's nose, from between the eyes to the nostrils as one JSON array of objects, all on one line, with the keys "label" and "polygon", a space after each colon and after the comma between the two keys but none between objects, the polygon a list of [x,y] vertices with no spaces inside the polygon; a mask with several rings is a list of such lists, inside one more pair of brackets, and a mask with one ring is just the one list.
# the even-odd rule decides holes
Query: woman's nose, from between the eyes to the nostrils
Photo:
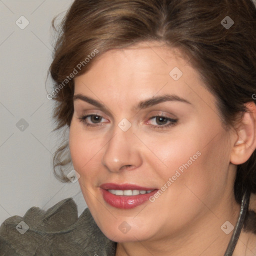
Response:
[{"label": "woman's nose, from between the eyes to the nostrils", "polygon": [[132,170],[142,164],[139,140],[132,133],[131,128],[122,131],[116,127],[105,147],[101,163],[111,172]]}]

